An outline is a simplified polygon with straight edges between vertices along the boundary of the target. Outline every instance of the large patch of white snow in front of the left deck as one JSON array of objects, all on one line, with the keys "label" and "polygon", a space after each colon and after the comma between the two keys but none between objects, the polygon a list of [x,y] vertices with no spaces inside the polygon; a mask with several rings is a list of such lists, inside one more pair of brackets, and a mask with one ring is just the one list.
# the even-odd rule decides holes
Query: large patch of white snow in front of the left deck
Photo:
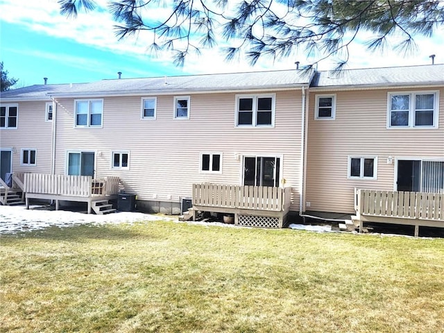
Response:
[{"label": "large patch of white snow in front of the left deck", "polygon": [[0,234],[42,230],[51,226],[60,228],[75,225],[105,225],[138,221],[178,221],[175,216],[157,216],[139,212],[116,212],[107,215],[85,214],[65,210],[44,210],[42,206],[0,206]]}]

